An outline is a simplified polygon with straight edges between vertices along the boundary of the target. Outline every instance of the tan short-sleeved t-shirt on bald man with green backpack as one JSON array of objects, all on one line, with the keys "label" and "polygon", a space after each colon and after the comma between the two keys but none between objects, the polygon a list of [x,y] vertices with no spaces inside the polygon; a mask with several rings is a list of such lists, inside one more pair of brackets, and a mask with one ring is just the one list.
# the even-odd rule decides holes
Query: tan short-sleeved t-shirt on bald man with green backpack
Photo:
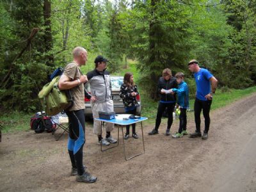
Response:
[{"label": "tan short-sleeved t-shirt on bald man with green backpack", "polygon": [[[76,81],[82,75],[79,66],[73,62],[68,63],[63,74],[72,79],[71,81]],[[79,86],[75,86],[70,90],[70,92],[74,98],[74,104],[71,108],[68,109],[68,111],[84,109],[84,84],[81,83]]]}]

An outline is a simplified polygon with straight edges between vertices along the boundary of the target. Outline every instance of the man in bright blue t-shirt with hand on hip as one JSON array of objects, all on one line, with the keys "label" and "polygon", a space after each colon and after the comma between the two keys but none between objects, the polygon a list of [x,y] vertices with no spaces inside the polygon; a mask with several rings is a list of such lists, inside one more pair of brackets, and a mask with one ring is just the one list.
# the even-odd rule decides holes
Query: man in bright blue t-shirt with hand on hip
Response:
[{"label": "man in bright blue t-shirt with hand on hip", "polygon": [[[196,131],[190,134],[191,138],[201,137],[203,140],[207,140],[208,131],[210,127],[210,109],[212,104],[212,95],[217,88],[218,80],[212,76],[211,72],[205,68],[200,68],[198,61],[191,60],[188,63],[188,69],[194,73],[196,81],[196,99],[195,99],[195,124]],[[200,114],[203,109],[205,129],[202,135],[200,130]]]}]

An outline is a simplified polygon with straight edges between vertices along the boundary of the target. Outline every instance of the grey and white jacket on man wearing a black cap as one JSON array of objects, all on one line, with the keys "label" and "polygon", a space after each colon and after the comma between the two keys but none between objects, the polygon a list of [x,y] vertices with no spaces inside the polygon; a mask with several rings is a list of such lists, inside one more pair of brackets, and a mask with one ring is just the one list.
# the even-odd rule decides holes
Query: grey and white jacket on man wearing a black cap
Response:
[{"label": "grey and white jacket on man wearing a black cap", "polygon": [[[87,73],[88,83],[90,84],[91,95],[97,97],[96,102],[106,102],[111,100],[111,81],[109,72],[98,71],[96,68]],[[85,94],[88,99],[90,95]]]}]

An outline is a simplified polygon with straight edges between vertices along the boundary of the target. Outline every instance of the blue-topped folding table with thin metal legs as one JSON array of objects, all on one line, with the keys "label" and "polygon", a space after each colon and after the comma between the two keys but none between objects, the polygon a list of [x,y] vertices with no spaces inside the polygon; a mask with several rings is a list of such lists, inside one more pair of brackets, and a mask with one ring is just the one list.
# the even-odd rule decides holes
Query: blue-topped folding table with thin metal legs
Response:
[{"label": "blue-topped folding table with thin metal legs", "polygon": [[[118,118],[114,118],[114,119],[111,119],[111,120],[107,120],[107,119],[104,119],[104,118],[95,118],[95,120],[99,120],[101,122],[101,130],[102,130],[102,126],[103,126],[103,122],[108,122],[108,123],[112,123],[112,124],[116,124],[118,125],[118,138],[117,138],[117,144],[113,147],[109,147],[109,148],[114,148],[114,147],[118,147],[118,143],[119,143],[119,128],[121,127],[122,128],[122,138],[123,138],[123,143],[124,143],[124,158],[125,160],[129,160],[129,159],[132,159],[133,157],[136,157],[136,156],[140,156],[141,154],[145,154],[145,145],[144,145],[144,137],[143,137],[143,126],[142,126],[142,122],[147,120],[148,118],[147,117],[143,117],[141,116],[141,118],[137,118],[137,119],[131,119],[129,118],[128,120],[121,120],[121,119],[118,119]],[[125,142],[124,142],[124,125],[131,125],[131,124],[136,124],[140,122],[141,124],[141,135],[142,135],[142,143],[143,143],[143,152],[141,152],[140,154],[136,154],[134,156],[131,156],[131,157],[126,157],[126,152],[125,152]],[[108,150],[109,148],[106,148],[104,150],[102,150],[102,145],[100,145],[100,150],[101,151],[105,151],[105,150]]]}]

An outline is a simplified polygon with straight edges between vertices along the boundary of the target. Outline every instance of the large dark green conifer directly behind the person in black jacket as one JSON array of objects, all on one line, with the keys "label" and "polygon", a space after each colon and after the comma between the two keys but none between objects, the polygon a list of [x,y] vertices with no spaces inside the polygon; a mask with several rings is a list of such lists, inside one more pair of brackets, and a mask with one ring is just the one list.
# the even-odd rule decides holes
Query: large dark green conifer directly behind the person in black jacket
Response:
[{"label": "large dark green conifer directly behind the person in black jacket", "polygon": [[137,22],[133,48],[140,60],[141,84],[147,85],[144,88],[152,99],[157,99],[156,84],[164,68],[170,68],[173,75],[184,69],[189,52],[186,14],[175,1],[137,1],[132,10],[131,17]]}]

